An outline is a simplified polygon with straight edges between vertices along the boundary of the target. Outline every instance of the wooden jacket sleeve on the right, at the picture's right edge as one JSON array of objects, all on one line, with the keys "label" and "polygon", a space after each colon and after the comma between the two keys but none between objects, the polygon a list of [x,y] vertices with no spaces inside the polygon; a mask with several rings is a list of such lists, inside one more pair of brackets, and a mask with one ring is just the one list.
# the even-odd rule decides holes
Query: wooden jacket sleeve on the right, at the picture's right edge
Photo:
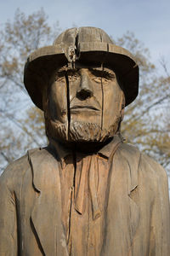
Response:
[{"label": "wooden jacket sleeve on the right, at the picture's right edge", "polygon": [[149,256],[170,255],[170,213],[167,173],[153,161],[156,172],[155,200],[152,206]]}]

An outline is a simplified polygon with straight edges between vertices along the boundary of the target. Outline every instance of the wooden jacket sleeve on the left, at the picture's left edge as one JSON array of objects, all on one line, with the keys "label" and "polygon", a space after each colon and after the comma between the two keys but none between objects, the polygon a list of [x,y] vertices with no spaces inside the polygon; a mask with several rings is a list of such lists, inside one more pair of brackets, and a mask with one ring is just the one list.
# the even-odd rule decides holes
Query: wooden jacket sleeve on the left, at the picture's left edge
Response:
[{"label": "wooden jacket sleeve on the left, at the picture's left edge", "polygon": [[17,256],[15,196],[6,171],[0,177],[0,255]]}]

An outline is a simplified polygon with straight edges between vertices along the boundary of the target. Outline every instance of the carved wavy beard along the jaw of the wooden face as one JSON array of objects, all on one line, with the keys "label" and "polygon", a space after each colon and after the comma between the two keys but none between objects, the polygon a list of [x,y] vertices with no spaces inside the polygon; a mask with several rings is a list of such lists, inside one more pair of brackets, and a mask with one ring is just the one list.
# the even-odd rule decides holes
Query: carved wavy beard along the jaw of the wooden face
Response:
[{"label": "carved wavy beard along the jaw of the wooden face", "polygon": [[67,129],[67,124],[62,124],[59,121],[54,122],[51,119],[45,120],[46,134],[48,137],[64,142],[79,143],[105,142],[108,138],[116,134],[119,130],[120,123],[121,118],[116,117],[116,121],[113,125],[108,129],[101,130],[98,124],[75,121],[71,123],[70,127]]}]

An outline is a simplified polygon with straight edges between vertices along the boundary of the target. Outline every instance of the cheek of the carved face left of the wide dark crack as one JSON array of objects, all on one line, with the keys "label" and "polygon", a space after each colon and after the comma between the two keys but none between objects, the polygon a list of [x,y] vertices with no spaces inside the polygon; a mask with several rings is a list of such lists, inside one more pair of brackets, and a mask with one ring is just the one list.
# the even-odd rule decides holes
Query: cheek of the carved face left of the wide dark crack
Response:
[{"label": "cheek of the carved face left of the wide dark crack", "polygon": [[49,93],[49,111],[51,119],[65,123],[66,88],[65,82],[54,82]]}]

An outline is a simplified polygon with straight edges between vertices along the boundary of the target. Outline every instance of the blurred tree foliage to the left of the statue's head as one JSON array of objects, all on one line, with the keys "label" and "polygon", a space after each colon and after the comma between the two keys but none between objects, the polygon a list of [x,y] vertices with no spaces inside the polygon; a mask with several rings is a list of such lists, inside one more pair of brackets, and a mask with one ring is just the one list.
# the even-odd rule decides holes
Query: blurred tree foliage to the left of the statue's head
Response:
[{"label": "blurred tree foliage to the left of the statue's head", "polygon": [[59,22],[48,26],[43,9],[25,15],[17,9],[14,20],[0,30],[0,172],[30,148],[47,143],[41,110],[33,107],[23,84],[27,56],[52,44],[59,34]]}]

